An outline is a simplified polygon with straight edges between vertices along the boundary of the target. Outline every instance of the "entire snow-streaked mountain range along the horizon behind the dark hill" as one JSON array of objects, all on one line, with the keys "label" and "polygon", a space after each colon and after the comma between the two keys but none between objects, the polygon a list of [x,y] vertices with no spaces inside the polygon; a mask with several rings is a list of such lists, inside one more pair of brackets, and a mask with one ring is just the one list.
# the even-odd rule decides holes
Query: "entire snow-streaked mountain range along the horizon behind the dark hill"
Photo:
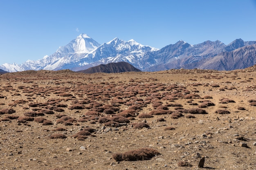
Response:
[{"label": "entire snow-streaked mountain range along the horizon behind the dark hill", "polygon": [[128,62],[141,71],[173,68],[233,70],[256,64],[255,44],[256,41],[236,39],[228,45],[219,40],[191,45],[181,40],[156,49],[119,38],[99,44],[87,34],[81,34],[50,56],[23,64],[5,63],[0,65],[0,69],[9,72],[41,69],[81,71],[100,64]]}]

